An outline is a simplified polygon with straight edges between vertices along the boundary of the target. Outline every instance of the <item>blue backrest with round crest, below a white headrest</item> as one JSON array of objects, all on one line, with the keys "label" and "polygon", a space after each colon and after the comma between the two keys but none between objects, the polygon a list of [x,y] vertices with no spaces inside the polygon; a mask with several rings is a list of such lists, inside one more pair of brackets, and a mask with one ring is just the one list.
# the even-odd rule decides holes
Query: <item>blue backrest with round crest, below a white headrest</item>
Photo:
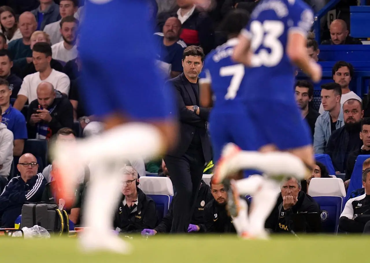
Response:
[{"label": "blue backrest with round crest, below a white headrest", "polygon": [[337,233],[343,198],[340,196],[313,196],[312,198],[320,206],[322,232]]}]

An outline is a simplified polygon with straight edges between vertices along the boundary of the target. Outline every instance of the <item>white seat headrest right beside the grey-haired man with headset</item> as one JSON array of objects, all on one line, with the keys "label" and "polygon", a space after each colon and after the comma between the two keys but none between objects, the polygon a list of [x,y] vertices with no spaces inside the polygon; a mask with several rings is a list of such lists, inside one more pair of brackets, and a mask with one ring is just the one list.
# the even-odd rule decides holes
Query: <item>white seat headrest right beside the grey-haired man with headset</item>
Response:
[{"label": "white seat headrest right beside the grey-haired man with headset", "polygon": [[144,194],[166,194],[174,196],[174,188],[168,177],[143,176],[140,177],[141,190]]}]

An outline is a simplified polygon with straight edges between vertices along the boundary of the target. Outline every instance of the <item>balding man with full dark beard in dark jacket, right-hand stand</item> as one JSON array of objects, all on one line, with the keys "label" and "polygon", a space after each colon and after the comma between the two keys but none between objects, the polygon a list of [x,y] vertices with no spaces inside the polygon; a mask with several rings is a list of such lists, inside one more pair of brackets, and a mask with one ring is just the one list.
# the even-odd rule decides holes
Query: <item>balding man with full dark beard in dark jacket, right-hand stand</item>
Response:
[{"label": "balding man with full dark beard in dark jacket, right-hand stand", "polygon": [[[349,99],[344,102],[344,126],[330,135],[325,148],[325,153],[332,158],[336,171],[344,173],[349,153],[359,149],[363,144],[359,137],[363,115],[362,103],[358,99]],[[345,186],[347,187],[348,183]]]}]

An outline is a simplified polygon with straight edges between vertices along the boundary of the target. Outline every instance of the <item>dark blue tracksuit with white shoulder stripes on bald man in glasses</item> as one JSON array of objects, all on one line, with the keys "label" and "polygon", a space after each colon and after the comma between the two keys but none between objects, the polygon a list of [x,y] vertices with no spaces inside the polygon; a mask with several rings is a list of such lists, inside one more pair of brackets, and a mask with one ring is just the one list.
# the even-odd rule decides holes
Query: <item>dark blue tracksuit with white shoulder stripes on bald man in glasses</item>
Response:
[{"label": "dark blue tracksuit with white shoulder stripes on bald man in glasses", "polygon": [[14,227],[14,221],[21,214],[24,203],[41,201],[46,183],[41,172],[27,182],[20,176],[12,178],[0,195],[1,227]]}]

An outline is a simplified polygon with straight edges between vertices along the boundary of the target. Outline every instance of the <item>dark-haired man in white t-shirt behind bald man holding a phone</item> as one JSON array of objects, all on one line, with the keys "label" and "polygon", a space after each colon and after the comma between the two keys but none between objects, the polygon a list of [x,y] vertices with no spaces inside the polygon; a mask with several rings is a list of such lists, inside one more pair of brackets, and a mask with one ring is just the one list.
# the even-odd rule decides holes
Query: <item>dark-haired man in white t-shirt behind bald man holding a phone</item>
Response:
[{"label": "dark-haired man in white t-shirt behind bald man holding a phone", "polygon": [[14,108],[21,110],[28,101],[37,99],[36,89],[41,82],[50,82],[54,89],[68,95],[70,89],[70,80],[62,72],[52,69],[51,47],[48,43],[40,42],[33,46],[33,63],[37,70],[36,73],[27,75],[23,79],[17,100],[14,102]]}]

